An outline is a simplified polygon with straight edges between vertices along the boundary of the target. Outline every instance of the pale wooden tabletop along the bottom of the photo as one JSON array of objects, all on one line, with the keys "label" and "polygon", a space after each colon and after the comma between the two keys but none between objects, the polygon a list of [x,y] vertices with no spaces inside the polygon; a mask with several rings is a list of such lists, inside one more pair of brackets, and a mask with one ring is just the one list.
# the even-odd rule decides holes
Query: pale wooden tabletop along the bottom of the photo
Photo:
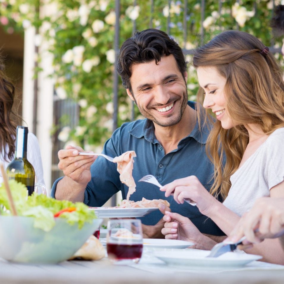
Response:
[{"label": "pale wooden tabletop along the bottom of the photo", "polygon": [[140,264],[134,267],[113,265],[107,258],[100,261],[64,261],[56,265],[24,265],[0,259],[0,283],[284,283],[284,269],[279,267],[219,273],[176,272],[170,266],[149,267],[153,272],[141,270]]}]

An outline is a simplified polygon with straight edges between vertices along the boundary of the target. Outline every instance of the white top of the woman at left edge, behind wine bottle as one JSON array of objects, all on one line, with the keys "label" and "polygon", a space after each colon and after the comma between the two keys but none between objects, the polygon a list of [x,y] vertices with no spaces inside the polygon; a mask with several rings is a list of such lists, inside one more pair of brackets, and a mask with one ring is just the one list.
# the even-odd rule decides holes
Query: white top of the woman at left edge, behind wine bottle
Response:
[{"label": "white top of the woman at left edge, behind wine bottle", "polygon": [[[6,152],[8,151],[9,148],[7,145]],[[2,155],[0,156],[0,162],[4,164],[4,168],[6,169],[11,160],[5,161],[3,158],[3,154],[4,152],[2,151]],[[37,137],[31,132],[28,133],[27,159],[34,167],[35,175],[37,176],[37,182],[44,184],[40,146],[38,144]],[[2,183],[2,181],[3,178],[0,173],[0,183]]]}]

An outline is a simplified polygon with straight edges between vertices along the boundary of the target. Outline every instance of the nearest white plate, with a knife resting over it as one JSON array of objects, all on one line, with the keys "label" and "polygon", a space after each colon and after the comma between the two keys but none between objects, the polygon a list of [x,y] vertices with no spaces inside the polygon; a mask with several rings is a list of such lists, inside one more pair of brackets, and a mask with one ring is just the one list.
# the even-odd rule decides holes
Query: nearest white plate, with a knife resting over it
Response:
[{"label": "nearest white plate, with a knife resting over it", "polygon": [[206,267],[240,267],[251,261],[261,259],[260,255],[228,252],[217,258],[206,257],[209,250],[163,250],[153,255],[171,265],[206,266]]}]

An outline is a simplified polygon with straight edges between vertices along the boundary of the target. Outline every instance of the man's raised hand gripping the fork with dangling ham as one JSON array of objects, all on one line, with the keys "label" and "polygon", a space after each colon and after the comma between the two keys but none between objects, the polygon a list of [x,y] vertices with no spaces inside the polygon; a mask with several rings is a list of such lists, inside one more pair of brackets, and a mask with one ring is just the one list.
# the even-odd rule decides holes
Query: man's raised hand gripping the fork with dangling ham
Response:
[{"label": "man's raised hand gripping the fork with dangling ham", "polygon": [[63,171],[74,182],[86,187],[91,180],[90,168],[97,156],[78,155],[84,152],[81,147],[72,147],[68,145],[65,150],[59,150],[58,168]]}]

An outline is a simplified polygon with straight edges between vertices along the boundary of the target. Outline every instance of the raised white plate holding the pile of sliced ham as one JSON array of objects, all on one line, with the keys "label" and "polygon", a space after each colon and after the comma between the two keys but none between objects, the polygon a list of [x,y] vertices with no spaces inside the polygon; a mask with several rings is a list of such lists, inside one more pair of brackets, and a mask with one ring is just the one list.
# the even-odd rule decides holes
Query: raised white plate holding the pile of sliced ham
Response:
[{"label": "raised white plate holding the pile of sliced ham", "polygon": [[90,207],[100,218],[131,218],[143,217],[152,211],[158,210],[158,207],[147,208],[112,208],[112,207]]}]

